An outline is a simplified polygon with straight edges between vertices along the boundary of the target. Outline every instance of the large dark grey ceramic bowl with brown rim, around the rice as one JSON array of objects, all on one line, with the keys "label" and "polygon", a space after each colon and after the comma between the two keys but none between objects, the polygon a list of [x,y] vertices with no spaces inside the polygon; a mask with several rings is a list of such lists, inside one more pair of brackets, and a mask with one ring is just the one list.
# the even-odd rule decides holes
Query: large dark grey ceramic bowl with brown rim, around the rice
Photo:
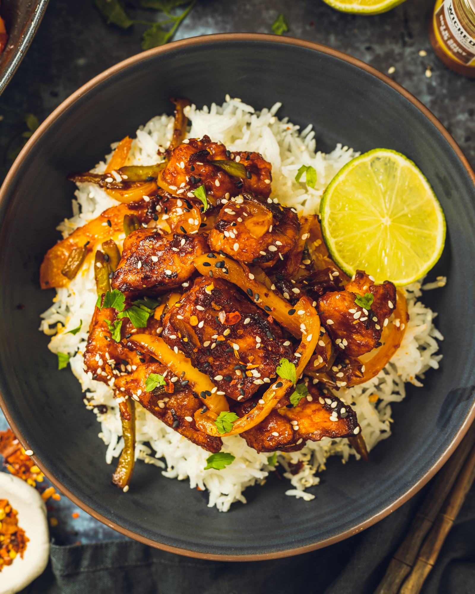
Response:
[{"label": "large dark grey ceramic bowl with brown rim, around the rice", "polygon": [[[432,274],[445,289],[425,300],[441,312],[445,342],[439,371],[394,405],[394,430],[370,462],[330,460],[316,500],[286,497],[276,479],[248,489],[229,513],[207,496],[138,464],[127,495],[110,483],[111,467],[85,410],[80,386],[58,372],[47,337],[37,331],[52,291],[38,268],[71,214],[71,170],[86,170],[109,143],[151,116],[170,111],[170,96],[197,103],[224,94],[258,108],[283,102],[281,115],[316,129],[318,146],[387,147],[423,170],[445,210],[444,255]],[[204,558],[249,560],[293,555],[346,538],[377,522],[441,467],[472,421],[475,372],[473,261],[475,176],[455,142],[414,97],[367,65],[312,43],[235,34],[172,43],[134,56],[94,78],[46,119],[23,149],[0,192],[0,391],[2,409],[24,447],[52,482],[107,525],[147,544]],[[24,309],[19,309],[23,304]]]}]

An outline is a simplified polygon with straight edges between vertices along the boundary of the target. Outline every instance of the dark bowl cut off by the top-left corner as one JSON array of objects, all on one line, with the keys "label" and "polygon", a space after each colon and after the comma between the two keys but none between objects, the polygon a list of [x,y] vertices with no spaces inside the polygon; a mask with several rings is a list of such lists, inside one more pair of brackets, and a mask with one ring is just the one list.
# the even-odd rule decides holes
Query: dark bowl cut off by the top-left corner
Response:
[{"label": "dark bowl cut off by the top-left corner", "polygon": [[5,0],[0,15],[5,21],[8,42],[0,55],[0,94],[20,66],[33,40],[48,0]]}]

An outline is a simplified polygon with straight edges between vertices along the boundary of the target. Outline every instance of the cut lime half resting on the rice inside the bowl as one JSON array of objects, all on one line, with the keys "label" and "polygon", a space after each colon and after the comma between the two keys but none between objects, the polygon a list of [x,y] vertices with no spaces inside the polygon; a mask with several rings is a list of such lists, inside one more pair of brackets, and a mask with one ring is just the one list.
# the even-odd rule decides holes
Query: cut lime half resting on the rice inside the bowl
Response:
[{"label": "cut lime half resting on the rice inside the bowl", "polygon": [[349,276],[408,285],[439,260],[445,218],[429,182],[403,154],[374,149],[335,175],[320,204],[322,233]]}]

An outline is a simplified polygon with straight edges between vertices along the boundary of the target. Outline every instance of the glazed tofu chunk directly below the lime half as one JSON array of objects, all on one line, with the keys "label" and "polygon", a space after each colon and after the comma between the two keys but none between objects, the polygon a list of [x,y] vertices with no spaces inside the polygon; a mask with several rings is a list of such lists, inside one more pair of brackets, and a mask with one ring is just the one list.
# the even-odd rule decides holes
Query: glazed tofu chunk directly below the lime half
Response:
[{"label": "glazed tofu chunk directly below the lime half", "polygon": [[[366,300],[368,293],[372,298]],[[370,307],[362,307],[355,300],[370,302]],[[381,346],[382,328],[388,324],[395,305],[396,288],[392,283],[386,280],[382,285],[375,285],[366,273],[358,270],[345,290],[322,295],[317,310],[333,343],[347,356],[357,357]]]}]

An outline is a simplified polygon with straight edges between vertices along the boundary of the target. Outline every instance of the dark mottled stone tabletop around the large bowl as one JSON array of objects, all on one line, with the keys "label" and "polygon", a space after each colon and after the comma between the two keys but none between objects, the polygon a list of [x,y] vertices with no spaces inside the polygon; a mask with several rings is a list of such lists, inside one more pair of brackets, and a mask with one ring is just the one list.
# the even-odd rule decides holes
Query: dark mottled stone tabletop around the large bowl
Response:
[{"label": "dark mottled stone tabletop around the large bowl", "polygon": [[[201,0],[176,39],[226,31],[269,33],[282,12],[294,37],[350,53],[382,72],[394,66],[392,78],[435,113],[475,166],[475,81],[450,71],[433,54],[427,37],[432,5],[432,0],[408,0],[383,15],[356,17],[316,0]],[[44,119],[81,84],[139,52],[143,29],[134,26],[122,31],[107,26],[87,1],[51,0],[29,53],[0,98],[3,151],[9,138],[24,129],[25,113]],[[426,50],[427,56],[420,57],[419,50]],[[430,78],[425,75],[427,66],[432,69]],[[5,159],[4,168],[8,169]],[[1,417],[0,429],[5,425]],[[60,522],[52,532],[59,544],[124,538],[77,510],[66,498],[55,507],[50,513]],[[80,511],[78,519],[71,518],[74,511]]]}]

